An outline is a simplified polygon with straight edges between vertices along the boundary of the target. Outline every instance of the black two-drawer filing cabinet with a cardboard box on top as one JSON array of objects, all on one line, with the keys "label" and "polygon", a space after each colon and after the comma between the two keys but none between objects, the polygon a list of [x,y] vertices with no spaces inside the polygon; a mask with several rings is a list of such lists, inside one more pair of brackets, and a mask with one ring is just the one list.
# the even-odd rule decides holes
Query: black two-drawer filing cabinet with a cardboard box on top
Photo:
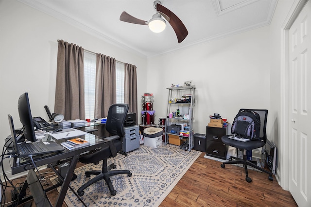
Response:
[{"label": "black two-drawer filing cabinet with a cardboard box on top", "polygon": [[206,127],[206,155],[226,159],[226,145],[222,136],[226,135],[226,128]]}]

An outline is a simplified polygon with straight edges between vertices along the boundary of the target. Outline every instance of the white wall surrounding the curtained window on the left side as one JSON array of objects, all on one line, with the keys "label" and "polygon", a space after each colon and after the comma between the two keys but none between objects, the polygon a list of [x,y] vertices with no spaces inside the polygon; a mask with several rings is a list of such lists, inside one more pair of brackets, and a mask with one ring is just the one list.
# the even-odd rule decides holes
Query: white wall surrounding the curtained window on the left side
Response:
[{"label": "white wall surrounding the curtained window on the left side", "polygon": [[[0,1],[0,148],[10,134],[7,114],[21,127],[18,97],[29,93],[32,115],[54,109],[58,39],[137,66],[138,94],[145,92],[146,58],[118,48],[17,0]],[[138,98],[140,103],[140,97]],[[6,165],[6,171],[10,169]]]}]

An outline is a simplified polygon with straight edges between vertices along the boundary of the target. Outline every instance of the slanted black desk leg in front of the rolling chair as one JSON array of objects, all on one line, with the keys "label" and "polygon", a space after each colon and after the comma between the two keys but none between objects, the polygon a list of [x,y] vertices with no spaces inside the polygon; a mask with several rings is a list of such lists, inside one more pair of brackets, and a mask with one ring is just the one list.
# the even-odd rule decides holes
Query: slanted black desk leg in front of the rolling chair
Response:
[{"label": "slanted black desk leg in front of the rolling chair", "polygon": [[65,199],[67,190],[69,188],[69,184],[70,184],[71,178],[73,176],[73,172],[74,172],[74,169],[75,169],[76,164],[78,162],[79,156],[80,155],[75,155],[72,157],[72,160],[70,162],[70,167],[68,169],[67,175],[66,175],[65,180],[63,182],[62,188],[59,192],[55,207],[61,207],[62,204],[64,203],[64,199]]}]

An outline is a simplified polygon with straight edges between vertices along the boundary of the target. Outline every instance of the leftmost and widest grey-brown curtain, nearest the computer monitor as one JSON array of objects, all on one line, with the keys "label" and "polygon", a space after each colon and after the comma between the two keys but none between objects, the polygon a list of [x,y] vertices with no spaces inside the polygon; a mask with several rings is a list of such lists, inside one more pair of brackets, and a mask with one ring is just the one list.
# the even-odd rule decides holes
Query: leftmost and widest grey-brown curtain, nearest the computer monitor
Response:
[{"label": "leftmost and widest grey-brown curtain, nearest the computer monitor", "polygon": [[58,41],[55,113],[65,120],[85,119],[82,47]]}]

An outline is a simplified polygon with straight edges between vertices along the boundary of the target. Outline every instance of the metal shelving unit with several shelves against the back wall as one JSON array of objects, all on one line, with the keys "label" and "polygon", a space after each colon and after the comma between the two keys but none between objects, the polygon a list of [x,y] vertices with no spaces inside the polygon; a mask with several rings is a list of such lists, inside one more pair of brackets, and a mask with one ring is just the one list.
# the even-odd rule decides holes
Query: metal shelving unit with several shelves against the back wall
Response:
[{"label": "metal shelving unit with several shelves against the back wall", "polygon": [[[189,143],[189,149],[190,151],[193,148],[193,130],[192,130],[192,122],[193,122],[193,108],[194,108],[194,92],[195,87],[193,86],[184,86],[184,87],[172,87],[167,88],[169,90],[169,98],[168,98],[168,107],[167,107],[167,113],[166,113],[166,122],[165,122],[165,144],[168,142],[168,135],[178,135],[183,138],[188,139]],[[190,102],[171,102],[175,98],[181,98],[182,96],[191,96]],[[173,96],[173,97],[172,97]],[[185,119],[183,117],[172,117],[169,118],[170,112],[173,110],[181,109],[182,111],[180,113],[187,113],[188,118]],[[187,124],[187,127],[189,127],[189,137],[188,136],[182,136],[179,134],[169,133],[167,132],[168,126],[171,126],[172,124]]]}]

